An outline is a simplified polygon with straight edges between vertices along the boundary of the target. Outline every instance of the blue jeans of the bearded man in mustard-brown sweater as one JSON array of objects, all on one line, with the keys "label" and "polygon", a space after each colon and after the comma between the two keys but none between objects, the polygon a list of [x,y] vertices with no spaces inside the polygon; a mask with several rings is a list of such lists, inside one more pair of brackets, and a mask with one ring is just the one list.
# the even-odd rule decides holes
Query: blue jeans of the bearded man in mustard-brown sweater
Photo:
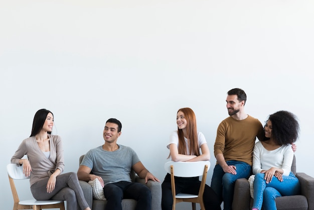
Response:
[{"label": "blue jeans of the bearded man in mustard-brown sweater", "polygon": [[224,201],[224,210],[231,210],[234,183],[239,178],[248,178],[252,167],[241,161],[226,161],[228,165],[236,166],[237,174],[225,173],[219,164],[216,164],[213,172],[211,188],[219,197],[220,203]]}]

